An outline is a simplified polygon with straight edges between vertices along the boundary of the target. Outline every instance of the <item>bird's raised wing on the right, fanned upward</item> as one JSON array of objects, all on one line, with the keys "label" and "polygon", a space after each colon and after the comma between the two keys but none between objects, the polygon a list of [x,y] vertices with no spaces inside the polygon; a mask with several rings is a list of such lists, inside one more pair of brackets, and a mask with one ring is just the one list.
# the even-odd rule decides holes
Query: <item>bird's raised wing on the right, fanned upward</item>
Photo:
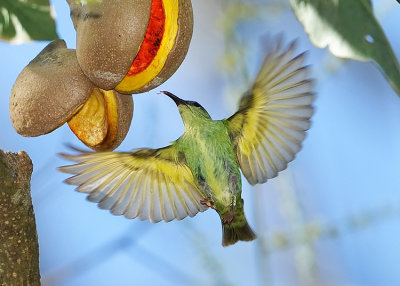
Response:
[{"label": "bird's raised wing on the right, fanned upward", "polygon": [[314,83],[305,55],[280,42],[261,66],[238,112],[225,119],[243,174],[251,184],[273,178],[301,148],[313,114]]}]

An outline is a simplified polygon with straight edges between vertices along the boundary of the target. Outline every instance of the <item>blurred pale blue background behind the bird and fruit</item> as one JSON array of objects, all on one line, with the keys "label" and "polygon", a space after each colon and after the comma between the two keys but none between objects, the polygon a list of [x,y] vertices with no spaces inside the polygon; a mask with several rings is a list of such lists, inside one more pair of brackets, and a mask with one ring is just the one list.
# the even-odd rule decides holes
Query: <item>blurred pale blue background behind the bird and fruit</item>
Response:
[{"label": "blurred pale blue background behind the bird and fruit", "polygon": [[[76,39],[66,1],[51,1],[58,33]],[[221,246],[218,215],[152,224],[100,210],[56,170],[65,143],[83,144],[64,125],[23,138],[8,101],[22,69],[46,45],[0,42],[0,148],[32,158],[32,199],[42,283],[52,285],[400,285],[400,99],[371,63],[339,60],[311,45],[288,1],[193,0],[187,58],[165,84],[133,95],[131,129],[118,150],[163,147],[183,124],[159,90],[196,100],[214,119],[236,111],[264,56],[282,33],[317,80],[312,127],[303,149],[277,178],[251,187],[245,212],[258,239]],[[372,1],[400,58],[400,6]],[[55,90],[56,92],[56,90]]]}]

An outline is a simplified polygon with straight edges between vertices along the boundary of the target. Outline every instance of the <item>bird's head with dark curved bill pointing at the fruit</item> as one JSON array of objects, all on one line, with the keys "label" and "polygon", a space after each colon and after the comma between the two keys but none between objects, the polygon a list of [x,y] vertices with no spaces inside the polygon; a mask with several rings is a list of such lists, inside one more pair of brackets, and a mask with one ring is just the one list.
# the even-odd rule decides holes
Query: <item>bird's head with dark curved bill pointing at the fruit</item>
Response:
[{"label": "bird's head with dark curved bill pointing at the fruit", "polygon": [[201,122],[202,120],[211,119],[208,112],[196,101],[186,101],[180,99],[168,91],[161,91],[161,93],[168,95],[175,102],[185,124],[195,124],[196,122]]}]

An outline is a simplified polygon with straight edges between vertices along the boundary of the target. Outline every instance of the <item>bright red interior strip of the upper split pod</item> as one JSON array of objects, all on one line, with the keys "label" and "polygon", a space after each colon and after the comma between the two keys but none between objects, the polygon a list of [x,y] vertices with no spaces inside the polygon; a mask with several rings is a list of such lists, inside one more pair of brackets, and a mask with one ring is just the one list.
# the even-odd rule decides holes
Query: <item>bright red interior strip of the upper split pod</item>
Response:
[{"label": "bright red interior strip of the upper split pod", "polygon": [[162,0],[153,0],[151,14],[146,35],[139,53],[136,55],[127,76],[132,76],[144,71],[152,62],[160,48],[165,28],[165,10]]}]

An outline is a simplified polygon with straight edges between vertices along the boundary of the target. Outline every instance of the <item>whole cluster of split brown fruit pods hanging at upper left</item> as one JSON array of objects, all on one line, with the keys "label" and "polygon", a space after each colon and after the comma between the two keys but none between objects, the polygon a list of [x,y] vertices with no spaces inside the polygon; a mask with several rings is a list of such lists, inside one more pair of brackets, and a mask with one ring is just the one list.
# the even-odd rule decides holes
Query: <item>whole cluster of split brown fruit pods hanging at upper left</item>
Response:
[{"label": "whole cluster of split brown fruit pods hanging at upper left", "polygon": [[132,93],[151,90],[178,69],[193,32],[190,0],[102,0],[76,5],[76,50],[44,48],[18,76],[10,116],[23,136],[68,122],[94,150],[113,150],[129,131]]}]

